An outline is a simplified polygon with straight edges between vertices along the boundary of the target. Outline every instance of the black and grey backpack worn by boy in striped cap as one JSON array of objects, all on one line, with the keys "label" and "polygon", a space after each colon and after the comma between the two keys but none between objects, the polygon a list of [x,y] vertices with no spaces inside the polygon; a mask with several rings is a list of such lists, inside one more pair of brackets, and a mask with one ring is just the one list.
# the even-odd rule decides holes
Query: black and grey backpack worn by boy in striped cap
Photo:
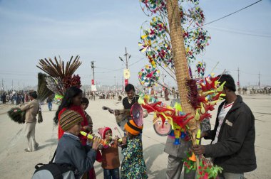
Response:
[{"label": "black and grey backpack worn by boy in striped cap", "polygon": [[70,164],[53,163],[56,156],[56,151],[53,153],[53,158],[48,164],[36,164],[32,179],[74,179],[76,178],[76,168]]}]

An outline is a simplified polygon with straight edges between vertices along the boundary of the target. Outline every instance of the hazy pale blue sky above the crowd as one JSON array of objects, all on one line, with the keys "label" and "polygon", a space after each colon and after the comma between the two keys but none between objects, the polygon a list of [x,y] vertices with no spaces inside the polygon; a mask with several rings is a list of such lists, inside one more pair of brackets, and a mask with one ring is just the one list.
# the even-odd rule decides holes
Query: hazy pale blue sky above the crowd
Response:
[{"label": "hazy pale blue sky above the crowd", "polygon": [[[200,1],[206,22],[242,9],[256,0]],[[271,1],[264,0],[248,9],[205,26],[212,37],[205,54],[207,73],[219,61],[215,73],[224,69],[241,85],[271,85]],[[0,80],[4,87],[36,85],[39,59],[60,55],[69,60],[80,55],[76,71],[83,85],[90,85],[91,61],[96,65],[96,82],[121,84],[125,65],[119,60],[125,47],[131,54],[131,80],[138,84],[138,71],[148,64],[139,52],[140,26],[149,20],[137,0],[0,0]],[[133,64],[133,65],[132,65]],[[112,70],[116,70],[113,71]],[[111,72],[108,72],[111,71]],[[165,78],[173,85],[173,80]]]}]

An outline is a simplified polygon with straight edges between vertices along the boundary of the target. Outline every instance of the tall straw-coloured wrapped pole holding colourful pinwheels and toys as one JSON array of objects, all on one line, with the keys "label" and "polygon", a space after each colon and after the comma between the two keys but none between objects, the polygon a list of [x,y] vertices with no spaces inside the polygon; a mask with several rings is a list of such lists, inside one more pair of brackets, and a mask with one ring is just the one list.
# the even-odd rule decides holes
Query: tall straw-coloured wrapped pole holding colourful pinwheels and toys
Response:
[{"label": "tall straw-coloured wrapped pole holding colourful pinwheels and toys", "polygon": [[[173,60],[175,66],[175,75],[178,83],[178,90],[180,94],[180,102],[182,104],[183,112],[185,114],[190,113],[195,116],[195,109],[188,102],[188,87],[186,86],[186,80],[190,79],[188,61],[185,57],[185,45],[183,40],[183,28],[181,26],[180,10],[178,0],[166,0],[168,11],[168,23],[170,27],[170,40],[173,50]],[[188,123],[189,132],[192,136],[193,144],[196,144],[195,136],[199,129],[199,123],[194,119],[191,119]],[[197,157],[197,166],[199,160]]]}]

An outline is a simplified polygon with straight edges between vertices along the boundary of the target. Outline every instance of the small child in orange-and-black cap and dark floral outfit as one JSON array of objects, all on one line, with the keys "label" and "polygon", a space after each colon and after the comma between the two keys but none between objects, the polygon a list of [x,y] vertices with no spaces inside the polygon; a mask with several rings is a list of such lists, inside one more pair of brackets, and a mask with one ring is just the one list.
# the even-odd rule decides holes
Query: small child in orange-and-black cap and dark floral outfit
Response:
[{"label": "small child in orange-and-black cap and dark floral outfit", "polygon": [[[121,151],[123,155],[121,178],[148,178],[139,135],[143,126],[139,127],[133,120],[130,120],[125,124],[124,129],[127,136],[127,147]],[[123,140],[123,143],[125,142]]]}]

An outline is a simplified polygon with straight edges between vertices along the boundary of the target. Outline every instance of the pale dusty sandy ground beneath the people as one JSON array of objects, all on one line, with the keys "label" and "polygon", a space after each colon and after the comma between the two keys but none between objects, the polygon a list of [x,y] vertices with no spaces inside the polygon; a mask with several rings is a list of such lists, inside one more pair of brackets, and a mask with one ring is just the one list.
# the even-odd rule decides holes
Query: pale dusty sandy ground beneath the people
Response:
[{"label": "pale dusty sandy ground beneath the people", "polygon": [[[271,164],[271,96],[270,95],[245,95],[244,101],[252,109],[255,115],[256,141],[255,150],[257,156],[257,169],[251,173],[245,173],[246,178],[270,178],[268,168]],[[98,127],[116,126],[112,114],[105,112],[101,107],[105,105],[112,109],[121,109],[122,104],[116,99],[96,99],[91,101],[88,107],[88,114],[92,116],[94,132]],[[33,153],[26,153],[27,147],[24,136],[24,124],[16,124],[9,119],[6,112],[11,105],[0,105],[0,178],[31,178],[34,173],[34,166],[37,163],[48,163],[53,156],[57,144],[57,130],[53,126],[53,116],[56,112],[56,105],[53,111],[49,112],[46,105],[42,107],[44,122],[36,125],[36,141],[39,143],[39,150]],[[213,113],[215,114],[215,112]],[[215,115],[214,115],[215,116]],[[212,127],[215,118],[211,119]],[[113,131],[113,135],[118,134]],[[148,168],[149,178],[165,178],[168,155],[163,152],[165,137],[155,134],[152,126],[152,116],[144,121],[143,129],[143,152],[145,163]],[[209,141],[203,141],[209,143]],[[103,178],[103,170],[100,163],[95,163],[97,178]]]}]

